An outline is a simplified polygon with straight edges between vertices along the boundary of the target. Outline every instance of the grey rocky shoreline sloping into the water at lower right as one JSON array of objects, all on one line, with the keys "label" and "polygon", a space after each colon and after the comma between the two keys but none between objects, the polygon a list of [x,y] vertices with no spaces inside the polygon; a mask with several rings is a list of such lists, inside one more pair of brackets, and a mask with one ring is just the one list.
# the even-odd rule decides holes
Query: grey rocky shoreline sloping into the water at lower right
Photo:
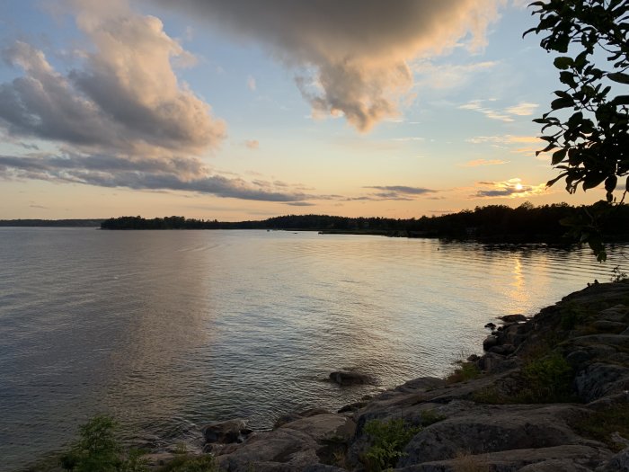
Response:
[{"label": "grey rocky shoreline sloping into the water at lower right", "polygon": [[209,424],[205,452],[228,472],[629,471],[629,281],[501,323],[448,378],[287,415],[270,432]]}]

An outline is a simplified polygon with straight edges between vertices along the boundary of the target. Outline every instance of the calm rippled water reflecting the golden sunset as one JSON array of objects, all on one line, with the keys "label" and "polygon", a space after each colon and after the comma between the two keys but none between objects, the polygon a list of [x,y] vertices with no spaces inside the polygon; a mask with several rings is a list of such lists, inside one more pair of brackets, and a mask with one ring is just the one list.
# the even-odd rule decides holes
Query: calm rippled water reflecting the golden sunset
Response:
[{"label": "calm rippled water reflecting the golden sunset", "polygon": [[[128,440],[331,409],[479,352],[612,261],[588,251],[266,231],[0,228],[0,457],[19,468],[98,412]],[[626,269],[626,268],[625,268]],[[377,387],[323,381],[353,368]]]}]

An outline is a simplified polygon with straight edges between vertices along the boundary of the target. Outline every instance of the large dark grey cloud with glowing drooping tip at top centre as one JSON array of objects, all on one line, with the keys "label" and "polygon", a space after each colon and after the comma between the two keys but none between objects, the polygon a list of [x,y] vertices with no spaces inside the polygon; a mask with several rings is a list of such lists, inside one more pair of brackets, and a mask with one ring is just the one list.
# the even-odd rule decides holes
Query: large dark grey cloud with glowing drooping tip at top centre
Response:
[{"label": "large dark grey cloud with glowing drooping tip at top centre", "polygon": [[261,44],[296,71],[314,115],[342,113],[368,131],[397,115],[409,64],[462,41],[482,48],[501,0],[154,0],[204,18],[237,40]]}]

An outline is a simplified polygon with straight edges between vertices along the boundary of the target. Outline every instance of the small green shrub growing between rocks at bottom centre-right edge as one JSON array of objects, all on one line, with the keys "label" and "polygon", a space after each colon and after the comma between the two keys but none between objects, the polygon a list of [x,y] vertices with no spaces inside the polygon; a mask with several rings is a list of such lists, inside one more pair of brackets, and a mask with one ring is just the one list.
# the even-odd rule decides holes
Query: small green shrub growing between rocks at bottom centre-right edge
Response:
[{"label": "small green shrub growing between rocks at bottom centre-right edge", "polygon": [[421,426],[407,426],[402,418],[382,422],[371,420],[365,424],[364,430],[371,438],[371,447],[365,458],[368,470],[380,471],[394,468],[403,457],[403,449],[412,437],[421,432]]}]

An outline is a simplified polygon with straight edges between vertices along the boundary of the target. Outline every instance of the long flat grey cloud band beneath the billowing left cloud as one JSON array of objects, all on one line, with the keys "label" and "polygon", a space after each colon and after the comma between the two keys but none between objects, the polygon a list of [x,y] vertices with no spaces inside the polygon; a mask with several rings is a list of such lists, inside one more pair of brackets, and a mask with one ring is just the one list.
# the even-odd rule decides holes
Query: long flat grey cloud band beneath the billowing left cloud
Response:
[{"label": "long flat grey cloud band beneath the billowing left cloud", "polygon": [[135,190],[194,191],[217,197],[243,200],[300,201],[329,200],[286,184],[248,183],[240,177],[211,174],[198,159],[139,158],[130,161],[106,155],[0,156],[0,178],[37,179],[49,182],[84,183]]}]

